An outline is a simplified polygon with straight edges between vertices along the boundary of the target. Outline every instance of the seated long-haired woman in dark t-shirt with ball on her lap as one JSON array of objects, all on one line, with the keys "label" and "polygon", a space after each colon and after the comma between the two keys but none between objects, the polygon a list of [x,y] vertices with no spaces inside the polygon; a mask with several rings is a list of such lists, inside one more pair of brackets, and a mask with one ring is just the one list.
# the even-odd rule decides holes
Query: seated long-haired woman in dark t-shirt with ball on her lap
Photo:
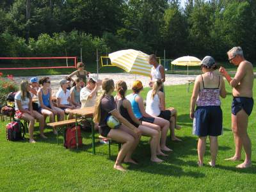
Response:
[{"label": "seated long-haired woman in dark t-shirt with ball on her lap", "polygon": [[[134,125],[128,122],[118,111],[116,110],[115,99],[112,93],[115,90],[115,84],[113,79],[104,79],[102,81],[102,95],[95,106],[95,113],[93,120],[95,123],[99,123],[100,134],[104,137],[111,138],[119,143],[122,143],[122,147],[118,152],[114,168],[116,170],[125,171],[122,166],[124,163],[134,163],[132,160],[132,152],[137,147],[140,141],[140,130]],[[117,129],[111,129],[108,127],[107,118],[113,115],[121,123]]]}]

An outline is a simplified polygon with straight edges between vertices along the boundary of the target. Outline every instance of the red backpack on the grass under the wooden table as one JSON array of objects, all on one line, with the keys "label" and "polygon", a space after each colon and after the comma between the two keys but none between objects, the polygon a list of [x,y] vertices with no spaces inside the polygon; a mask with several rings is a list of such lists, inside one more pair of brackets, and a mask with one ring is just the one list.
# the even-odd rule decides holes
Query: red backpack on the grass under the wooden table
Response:
[{"label": "red backpack on the grass under the wooden table", "polygon": [[74,126],[65,130],[64,147],[76,148],[83,145],[83,137],[81,136],[81,127]]}]

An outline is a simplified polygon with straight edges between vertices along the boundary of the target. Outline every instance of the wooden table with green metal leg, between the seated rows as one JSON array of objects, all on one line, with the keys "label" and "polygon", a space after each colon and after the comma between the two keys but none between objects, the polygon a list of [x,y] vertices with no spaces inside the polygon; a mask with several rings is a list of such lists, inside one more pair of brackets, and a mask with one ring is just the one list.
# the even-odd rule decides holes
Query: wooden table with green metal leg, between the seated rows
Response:
[{"label": "wooden table with green metal leg, between the seated rows", "polygon": [[86,120],[86,118],[91,118],[92,120],[92,153],[95,154],[95,136],[94,136],[95,130],[94,130],[94,123],[93,123],[94,107],[72,109],[72,110],[68,110],[67,113],[75,115],[76,118],[81,117],[83,120]]}]

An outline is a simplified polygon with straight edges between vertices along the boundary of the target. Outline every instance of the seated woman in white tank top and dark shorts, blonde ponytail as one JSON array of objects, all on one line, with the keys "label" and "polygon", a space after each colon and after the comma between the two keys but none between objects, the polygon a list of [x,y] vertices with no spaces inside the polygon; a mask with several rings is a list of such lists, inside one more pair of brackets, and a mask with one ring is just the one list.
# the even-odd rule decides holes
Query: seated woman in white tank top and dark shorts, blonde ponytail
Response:
[{"label": "seated woman in white tank top and dark shorts, blonde ponytail", "polygon": [[159,116],[170,122],[170,132],[173,141],[181,141],[175,137],[174,128],[180,129],[177,125],[177,111],[174,108],[165,109],[164,93],[161,92],[163,82],[161,79],[154,79],[152,90],[147,93],[146,112],[152,116]]}]

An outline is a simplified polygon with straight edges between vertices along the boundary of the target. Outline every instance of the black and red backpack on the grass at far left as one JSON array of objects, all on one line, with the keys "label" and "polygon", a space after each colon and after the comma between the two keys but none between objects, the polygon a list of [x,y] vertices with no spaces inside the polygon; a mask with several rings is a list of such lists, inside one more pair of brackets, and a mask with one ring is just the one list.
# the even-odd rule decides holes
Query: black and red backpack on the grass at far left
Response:
[{"label": "black and red backpack on the grass at far left", "polygon": [[[21,129],[23,129],[23,131]],[[23,140],[24,135],[25,135],[25,127],[19,120],[15,120],[6,125],[6,140],[9,140],[9,141]]]}]

